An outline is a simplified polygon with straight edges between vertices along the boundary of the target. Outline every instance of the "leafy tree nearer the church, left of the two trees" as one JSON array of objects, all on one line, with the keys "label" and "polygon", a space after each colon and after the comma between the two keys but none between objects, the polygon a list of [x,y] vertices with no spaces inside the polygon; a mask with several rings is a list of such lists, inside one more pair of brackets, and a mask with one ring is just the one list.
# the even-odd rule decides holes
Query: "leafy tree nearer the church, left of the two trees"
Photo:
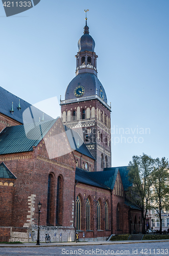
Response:
[{"label": "leafy tree nearer the church, left of the two trees", "polygon": [[154,170],[154,159],[143,153],[142,156],[133,156],[129,163],[129,181],[133,184],[128,189],[127,197],[141,210],[143,228],[146,233],[146,215],[150,209],[152,172]]}]

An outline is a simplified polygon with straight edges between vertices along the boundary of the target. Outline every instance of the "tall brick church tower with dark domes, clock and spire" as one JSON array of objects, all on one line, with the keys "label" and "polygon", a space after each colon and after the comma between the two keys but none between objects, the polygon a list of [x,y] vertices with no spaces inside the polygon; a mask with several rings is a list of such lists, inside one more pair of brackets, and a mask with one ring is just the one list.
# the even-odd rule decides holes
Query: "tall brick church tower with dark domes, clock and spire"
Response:
[{"label": "tall brick church tower with dark domes, clock and spire", "polygon": [[65,100],[60,100],[63,124],[76,132],[82,131],[80,135],[96,159],[94,169],[87,165],[84,167],[89,172],[111,167],[111,107],[107,104],[106,92],[98,79],[98,56],[94,47],[86,18],[84,34],[78,41],[76,76],[68,84]]}]

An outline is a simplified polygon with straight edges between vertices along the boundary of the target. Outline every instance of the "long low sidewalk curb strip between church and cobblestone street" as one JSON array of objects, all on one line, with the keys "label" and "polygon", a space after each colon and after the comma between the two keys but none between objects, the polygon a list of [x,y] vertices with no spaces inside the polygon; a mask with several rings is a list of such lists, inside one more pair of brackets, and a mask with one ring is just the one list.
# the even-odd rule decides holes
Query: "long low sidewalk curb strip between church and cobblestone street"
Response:
[{"label": "long low sidewalk curb strip between church and cobblestone street", "polygon": [[144,240],[144,241],[138,241],[138,240],[134,240],[134,241],[112,241],[112,242],[95,242],[95,243],[88,243],[88,242],[83,242],[83,243],[75,243],[75,242],[70,242],[70,243],[58,243],[58,244],[44,244],[44,245],[36,245],[36,244],[32,244],[32,245],[1,245],[0,244],[0,248],[19,248],[19,247],[64,247],[64,246],[85,246],[85,245],[90,245],[90,246],[94,246],[94,245],[114,245],[114,244],[141,244],[141,243],[160,243],[160,242],[169,242],[168,239],[165,240]]}]

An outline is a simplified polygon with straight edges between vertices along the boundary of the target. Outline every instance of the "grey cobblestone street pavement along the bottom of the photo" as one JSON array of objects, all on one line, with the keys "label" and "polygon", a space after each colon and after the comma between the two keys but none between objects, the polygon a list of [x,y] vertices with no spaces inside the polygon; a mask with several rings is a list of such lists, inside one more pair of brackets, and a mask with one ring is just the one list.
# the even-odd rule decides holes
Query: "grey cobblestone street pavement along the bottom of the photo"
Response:
[{"label": "grey cobblestone street pavement along the bottom of the photo", "polygon": [[169,256],[169,241],[112,245],[85,245],[63,247],[0,248],[0,256],[54,256],[54,255],[147,255]]}]

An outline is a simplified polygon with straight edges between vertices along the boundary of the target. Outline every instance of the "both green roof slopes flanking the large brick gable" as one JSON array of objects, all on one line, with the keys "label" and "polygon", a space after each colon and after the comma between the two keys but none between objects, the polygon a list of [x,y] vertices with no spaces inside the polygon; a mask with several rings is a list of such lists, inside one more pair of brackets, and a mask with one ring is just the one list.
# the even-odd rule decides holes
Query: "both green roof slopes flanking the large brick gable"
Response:
[{"label": "both green roof slopes flanking the large brick gable", "polygon": [[[33,151],[33,146],[39,144],[57,119],[6,127],[0,133],[0,155]],[[71,148],[94,159],[80,135],[66,126],[64,128]]]}]

